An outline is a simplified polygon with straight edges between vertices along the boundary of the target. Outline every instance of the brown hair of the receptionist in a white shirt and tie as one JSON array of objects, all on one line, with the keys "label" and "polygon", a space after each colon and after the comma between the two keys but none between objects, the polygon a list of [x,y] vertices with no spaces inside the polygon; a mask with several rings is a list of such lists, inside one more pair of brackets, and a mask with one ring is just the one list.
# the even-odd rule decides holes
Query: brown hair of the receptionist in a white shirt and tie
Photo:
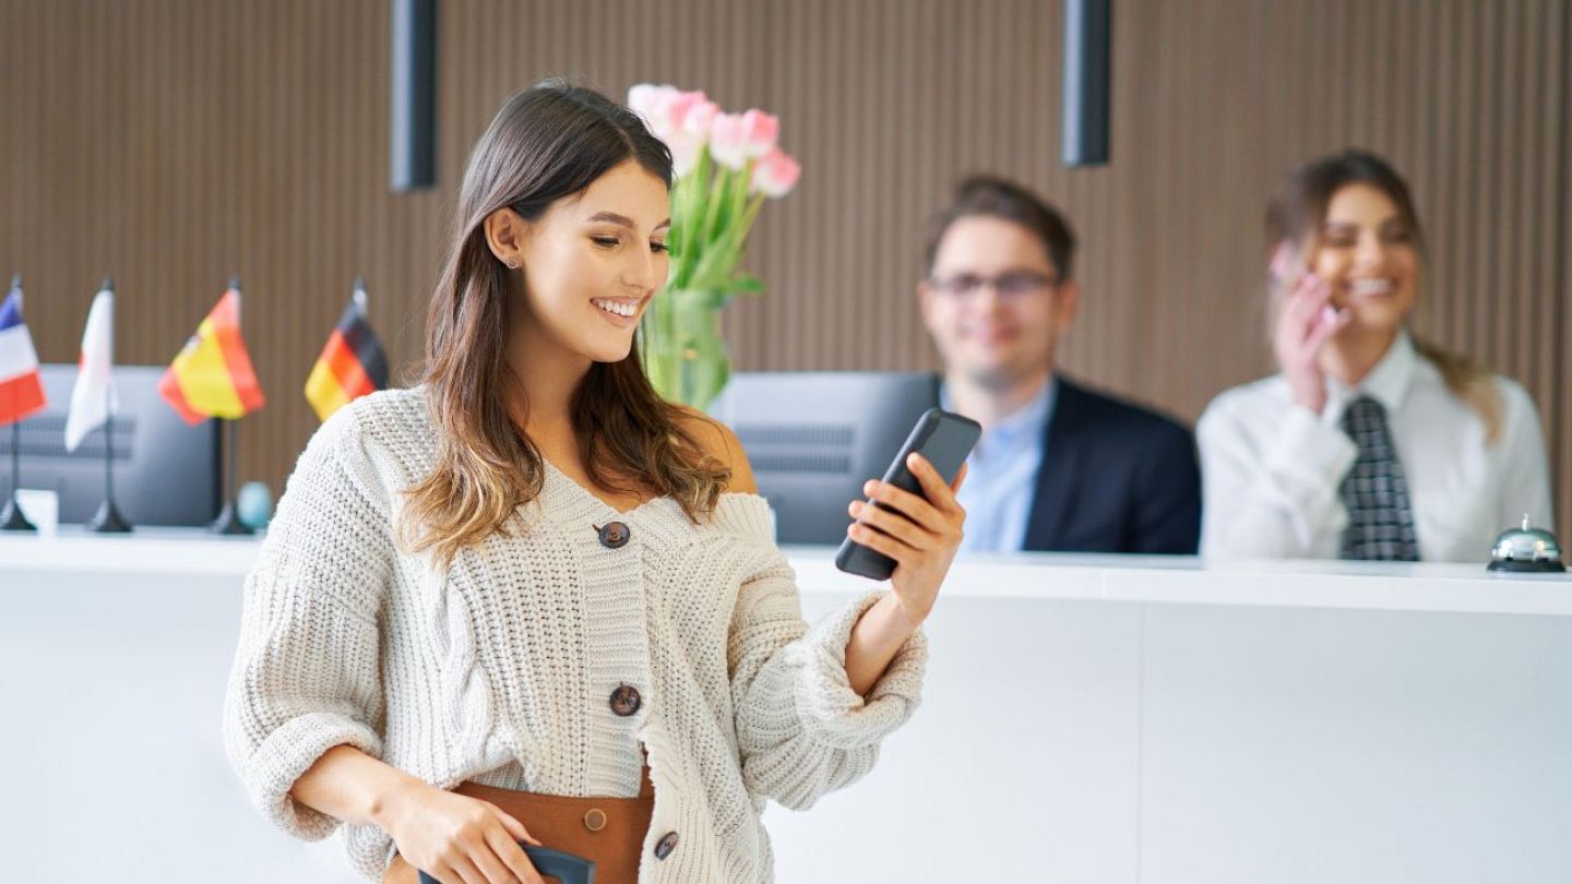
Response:
[{"label": "brown hair of the receptionist in a white shirt and tie", "polygon": [[[1281,190],[1267,206],[1269,245],[1292,242],[1303,249],[1308,244],[1313,250],[1320,236],[1320,225],[1327,220],[1327,206],[1331,204],[1333,193],[1349,184],[1368,184],[1398,206],[1398,217],[1413,238],[1423,263],[1424,234],[1413,198],[1409,195],[1409,184],[1382,157],[1353,149],[1309,160],[1287,175]],[[1501,434],[1501,396],[1490,371],[1467,355],[1423,341],[1416,335],[1410,337],[1413,349],[1435,365],[1446,389],[1479,415],[1486,439],[1495,442]]]}]

